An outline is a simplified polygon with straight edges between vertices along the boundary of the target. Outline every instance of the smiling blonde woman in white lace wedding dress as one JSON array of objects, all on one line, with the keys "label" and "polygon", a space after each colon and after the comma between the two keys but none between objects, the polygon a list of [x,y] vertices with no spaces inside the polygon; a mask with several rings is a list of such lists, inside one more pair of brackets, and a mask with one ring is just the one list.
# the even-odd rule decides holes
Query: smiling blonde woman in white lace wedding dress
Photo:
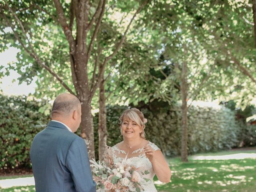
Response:
[{"label": "smiling blonde woman in white lace wedding dress", "polygon": [[161,182],[168,183],[172,174],[158,146],[145,139],[147,119],[140,110],[132,108],[125,110],[119,120],[124,140],[110,148],[114,154],[114,163],[125,161],[136,168],[145,167],[150,173],[144,177],[150,181],[142,184],[144,192],[157,192],[153,182],[154,175]]}]

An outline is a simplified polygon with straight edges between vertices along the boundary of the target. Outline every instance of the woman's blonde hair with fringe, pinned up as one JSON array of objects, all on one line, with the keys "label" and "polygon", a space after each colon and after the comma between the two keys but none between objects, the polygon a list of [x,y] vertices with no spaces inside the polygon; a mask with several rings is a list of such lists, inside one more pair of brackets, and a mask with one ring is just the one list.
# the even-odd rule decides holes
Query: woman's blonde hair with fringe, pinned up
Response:
[{"label": "woman's blonde hair with fringe, pinned up", "polygon": [[122,134],[122,123],[124,120],[134,121],[136,122],[136,124],[141,126],[142,132],[140,133],[140,137],[145,138],[146,133],[144,132],[144,129],[146,127],[145,122],[147,120],[144,118],[144,115],[140,110],[138,110],[137,108],[131,108],[131,109],[125,110],[122,113],[122,115],[119,118],[121,134]]}]

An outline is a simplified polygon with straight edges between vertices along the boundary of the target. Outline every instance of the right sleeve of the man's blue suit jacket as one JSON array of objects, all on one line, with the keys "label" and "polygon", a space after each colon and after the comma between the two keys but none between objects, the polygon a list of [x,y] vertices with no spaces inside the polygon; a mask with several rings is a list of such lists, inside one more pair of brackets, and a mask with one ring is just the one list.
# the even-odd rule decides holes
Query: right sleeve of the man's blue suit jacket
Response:
[{"label": "right sleeve of the man's blue suit jacket", "polygon": [[96,192],[86,144],[82,138],[77,137],[71,143],[66,156],[66,167],[71,173],[76,191]]}]

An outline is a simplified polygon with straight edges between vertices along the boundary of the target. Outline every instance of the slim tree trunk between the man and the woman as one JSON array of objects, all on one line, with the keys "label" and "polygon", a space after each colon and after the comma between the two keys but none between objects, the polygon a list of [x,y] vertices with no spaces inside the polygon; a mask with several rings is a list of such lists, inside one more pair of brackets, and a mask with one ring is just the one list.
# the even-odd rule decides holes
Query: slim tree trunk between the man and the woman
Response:
[{"label": "slim tree trunk between the man and the woman", "polygon": [[105,151],[105,146],[107,144],[107,124],[106,124],[106,102],[105,102],[105,89],[104,80],[100,81],[100,96],[99,96],[99,160],[103,160],[103,154]]}]

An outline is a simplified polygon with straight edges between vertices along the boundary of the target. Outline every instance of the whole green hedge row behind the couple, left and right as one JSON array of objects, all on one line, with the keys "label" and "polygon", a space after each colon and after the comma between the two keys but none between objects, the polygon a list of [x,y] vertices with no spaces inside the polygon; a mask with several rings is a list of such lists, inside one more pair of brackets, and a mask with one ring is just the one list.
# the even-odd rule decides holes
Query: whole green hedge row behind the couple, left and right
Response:
[{"label": "whole green hedge row behind the couple, left and right", "polygon": [[[134,106],[134,105],[130,105]],[[146,124],[146,139],[168,156],[180,154],[180,107],[154,100],[139,102]],[[30,167],[29,150],[36,133],[43,130],[50,116],[46,101],[28,101],[25,96],[0,95],[0,169]],[[108,146],[122,141],[119,117],[127,106],[107,106]],[[241,112],[240,112],[241,114]],[[95,148],[98,154],[98,115],[94,117]],[[80,130],[80,129],[79,129]],[[236,111],[224,105],[192,106],[188,114],[188,152],[217,151],[237,146],[256,146],[256,125],[236,119]],[[79,132],[76,132],[79,135]]]}]

